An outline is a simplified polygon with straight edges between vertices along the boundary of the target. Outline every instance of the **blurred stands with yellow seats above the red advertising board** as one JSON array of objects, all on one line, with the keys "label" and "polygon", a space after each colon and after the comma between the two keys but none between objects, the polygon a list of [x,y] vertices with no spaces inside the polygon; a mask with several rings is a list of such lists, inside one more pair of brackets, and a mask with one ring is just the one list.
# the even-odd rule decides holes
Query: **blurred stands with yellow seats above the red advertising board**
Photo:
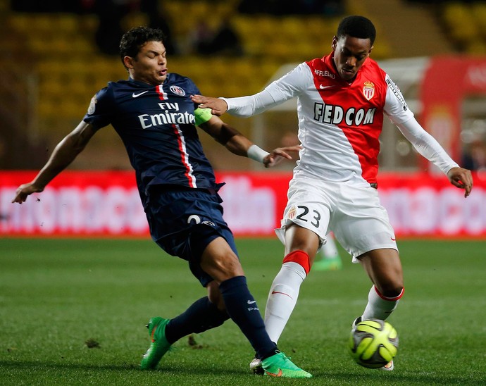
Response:
[{"label": "blurred stands with yellow seats above the red advertising board", "polygon": [[[113,24],[103,30],[106,13]],[[170,71],[192,77],[203,94],[234,97],[260,91],[289,63],[327,54],[347,14],[373,20],[378,38],[372,57],[401,87],[419,120],[418,93],[430,58],[486,57],[485,1],[1,0],[0,169],[42,166],[84,116],[94,92],[127,77],[113,53],[116,45],[99,43],[104,31],[117,42],[117,28],[160,24],[173,44]],[[239,37],[239,51],[198,52],[194,39],[200,30],[216,31],[223,22]],[[463,104],[461,149],[484,142],[485,106],[484,95]],[[279,146],[283,133],[297,130],[295,112],[267,114],[225,120],[266,147]],[[254,167],[201,137],[216,169]],[[384,130],[382,142],[391,149],[381,155],[382,170],[418,168],[415,152],[397,130]],[[114,130],[101,130],[72,168],[130,165]]]}]

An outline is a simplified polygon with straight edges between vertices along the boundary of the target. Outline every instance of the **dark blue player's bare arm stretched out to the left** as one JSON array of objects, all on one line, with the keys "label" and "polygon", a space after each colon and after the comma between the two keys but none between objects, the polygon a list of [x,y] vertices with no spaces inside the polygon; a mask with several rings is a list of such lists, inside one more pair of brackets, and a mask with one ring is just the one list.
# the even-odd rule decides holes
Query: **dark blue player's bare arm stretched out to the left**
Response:
[{"label": "dark blue player's bare arm stretched out to the left", "polygon": [[75,130],[66,135],[57,144],[44,168],[39,171],[34,180],[18,187],[12,202],[22,204],[30,194],[42,192],[46,185],[85,149],[89,139],[93,137],[95,132],[96,130],[89,123],[81,122],[77,125]]}]

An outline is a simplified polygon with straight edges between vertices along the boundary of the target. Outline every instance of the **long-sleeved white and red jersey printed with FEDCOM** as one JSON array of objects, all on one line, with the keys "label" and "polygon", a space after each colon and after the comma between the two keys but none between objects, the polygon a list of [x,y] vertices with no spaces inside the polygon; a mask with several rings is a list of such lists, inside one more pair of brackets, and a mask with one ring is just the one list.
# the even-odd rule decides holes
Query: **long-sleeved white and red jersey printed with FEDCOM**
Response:
[{"label": "long-sleeved white and red jersey printed with FEDCOM", "polygon": [[228,113],[253,116],[294,97],[302,144],[294,177],[376,183],[384,114],[444,173],[457,166],[418,125],[398,87],[370,58],[352,82],[339,77],[331,53],[301,63],[263,92],[224,99]]}]

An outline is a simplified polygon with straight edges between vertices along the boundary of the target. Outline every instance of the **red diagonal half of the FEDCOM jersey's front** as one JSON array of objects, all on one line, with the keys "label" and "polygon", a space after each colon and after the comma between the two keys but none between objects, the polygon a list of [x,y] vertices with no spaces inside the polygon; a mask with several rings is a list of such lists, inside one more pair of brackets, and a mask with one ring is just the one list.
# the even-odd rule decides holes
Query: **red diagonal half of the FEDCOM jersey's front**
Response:
[{"label": "red diagonal half of the FEDCOM jersey's front", "polygon": [[[333,123],[342,130],[349,144],[358,156],[361,165],[361,176],[370,183],[376,183],[378,174],[378,154],[380,153],[380,133],[383,124],[383,107],[387,93],[385,72],[372,59],[366,59],[358,71],[356,79],[349,82],[339,77],[333,63],[333,54],[324,58],[307,62],[313,75],[314,85],[325,105],[339,106],[344,115],[349,117],[351,124],[343,118],[340,123]],[[369,87],[364,89],[364,83],[374,85],[373,96],[370,97]],[[368,83],[367,83],[368,85]],[[370,97],[370,99],[367,99]],[[372,111],[373,122],[362,124],[366,113]],[[355,120],[358,113],[364,114],[360,122]]]}]

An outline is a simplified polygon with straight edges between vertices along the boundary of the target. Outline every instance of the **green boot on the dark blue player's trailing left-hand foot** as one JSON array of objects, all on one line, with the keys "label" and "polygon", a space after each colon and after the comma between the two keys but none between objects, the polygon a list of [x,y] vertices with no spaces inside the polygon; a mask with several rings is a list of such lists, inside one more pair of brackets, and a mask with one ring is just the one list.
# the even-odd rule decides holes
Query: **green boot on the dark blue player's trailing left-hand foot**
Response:
[{"label": "green boot on the dark blue player's trailing left-hand foot", "polygon": [[170,349],[170,343],[166,340],[166,325],[170,319],[164,319],[160,316],[151,318],[147,328],[149,329],[149,335],[152,338],[149,349],[144,354],[142,362],[140,362],[140,368],[142,370],[151,370],[157,367],[158,362]]}]

